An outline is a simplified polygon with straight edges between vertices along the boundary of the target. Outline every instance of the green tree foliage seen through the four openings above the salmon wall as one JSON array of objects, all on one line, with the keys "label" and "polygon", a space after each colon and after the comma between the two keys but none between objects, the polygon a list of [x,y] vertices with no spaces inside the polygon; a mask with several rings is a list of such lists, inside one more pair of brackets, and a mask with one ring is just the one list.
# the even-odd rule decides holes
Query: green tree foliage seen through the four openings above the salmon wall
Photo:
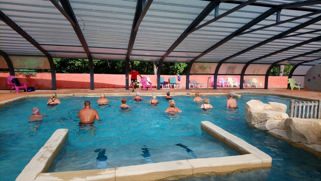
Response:
[{"label": "green tree foliage seen through the four openings above the salmon wall", "polygon": [[[88,59],[53,58],[56,73],[90,73]],[[130,61],[130,70],[135,68],[140,74],[153,75],[152,62]],[[155,63],[157,68],[158,62]],[[168,63],[162,65],[162,75],[186,75],[187,63]],[[94,73],[98,74],[125,74],[125,61],[93,60]]]}]

